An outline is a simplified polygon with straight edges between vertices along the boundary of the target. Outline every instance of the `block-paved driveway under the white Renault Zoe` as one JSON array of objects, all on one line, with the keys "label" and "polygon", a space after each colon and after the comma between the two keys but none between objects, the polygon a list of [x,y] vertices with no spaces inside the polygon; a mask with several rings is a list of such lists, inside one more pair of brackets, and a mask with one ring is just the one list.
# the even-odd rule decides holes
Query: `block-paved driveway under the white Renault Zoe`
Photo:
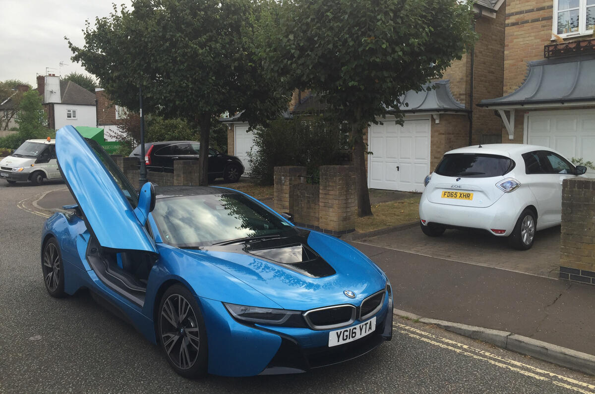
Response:
[{"label": "block-paved driveway under the white Renault Zoe", "polygon": [[558,277],[560,264],[560,226],[536,233],[533,248],[509,248],[503,237],[472,230],[446,230],[440,237],[428,237],[419,225],[388,234],[365,237],[356,242],[396,251],[483,265],[545,277]]}]

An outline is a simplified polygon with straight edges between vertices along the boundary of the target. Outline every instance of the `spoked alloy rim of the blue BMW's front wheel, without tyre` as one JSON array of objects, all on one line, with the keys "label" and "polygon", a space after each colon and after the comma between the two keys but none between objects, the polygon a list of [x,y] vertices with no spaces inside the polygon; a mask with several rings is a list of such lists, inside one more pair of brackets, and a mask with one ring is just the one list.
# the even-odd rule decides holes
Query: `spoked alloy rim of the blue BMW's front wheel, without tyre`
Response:
[{"label": "spoked alloy rim of the blue BMW's front wheel, without tyre", "polygon": [[195,311],[180,294],[170,295],[161,308],[161,342],[170,361],[181,370],[192,368],[201,349]]}]

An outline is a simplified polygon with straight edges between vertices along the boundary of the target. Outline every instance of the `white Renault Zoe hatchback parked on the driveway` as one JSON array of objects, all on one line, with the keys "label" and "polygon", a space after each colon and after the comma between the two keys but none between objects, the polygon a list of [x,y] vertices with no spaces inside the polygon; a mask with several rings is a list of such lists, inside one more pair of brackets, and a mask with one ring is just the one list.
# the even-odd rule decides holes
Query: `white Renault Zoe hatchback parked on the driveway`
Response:
[{"label": "white Renault Zoe hatchback parked on the driveway", "polygon": [[533,246],[536,230],[562,220],[562,181],[586,167],[550,148],[498,143],[446,152],[425,177],[419,201],[421,230],[481,229],[509,237],[513,248]]}]

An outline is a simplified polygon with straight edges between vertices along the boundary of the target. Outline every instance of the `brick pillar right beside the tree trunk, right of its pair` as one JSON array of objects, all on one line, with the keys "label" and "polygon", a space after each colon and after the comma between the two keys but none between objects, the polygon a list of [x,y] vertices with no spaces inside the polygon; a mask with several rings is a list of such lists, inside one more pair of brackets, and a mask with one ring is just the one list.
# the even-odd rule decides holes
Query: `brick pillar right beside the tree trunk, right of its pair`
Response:
[{"label": "brick pillar right beside the tree trunk, right of its pair", "polygon": [[320,167],[321,231],[335,235],[352,232],[357,214],[355,168],[352,165]]}]

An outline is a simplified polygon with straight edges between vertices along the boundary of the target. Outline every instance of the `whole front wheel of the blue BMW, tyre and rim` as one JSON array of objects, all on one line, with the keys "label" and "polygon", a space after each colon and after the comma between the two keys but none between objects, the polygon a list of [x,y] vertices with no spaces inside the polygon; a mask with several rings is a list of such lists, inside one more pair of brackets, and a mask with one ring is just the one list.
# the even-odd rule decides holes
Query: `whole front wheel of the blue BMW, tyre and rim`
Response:
[{"label": "whole front wheel of the blue BMW, tyre and rim", "polygon": [[181,284],[171,286],[159,303],[157,336],[165,358],[183,377],[206,374],[205,322],[195,296]]}]

